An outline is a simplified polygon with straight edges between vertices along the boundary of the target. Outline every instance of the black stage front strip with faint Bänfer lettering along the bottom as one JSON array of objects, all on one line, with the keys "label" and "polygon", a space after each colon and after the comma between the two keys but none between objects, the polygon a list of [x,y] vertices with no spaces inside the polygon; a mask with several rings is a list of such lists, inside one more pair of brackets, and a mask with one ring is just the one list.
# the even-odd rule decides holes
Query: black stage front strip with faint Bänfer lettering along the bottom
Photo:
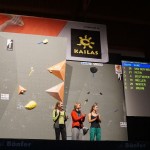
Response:
[{"label": "black stage front strip with faint B\u00e4nfer lettering along the bottom", "polygon": [[149,141],[56,141],[41,139],[0,139],[0,150],[97,149],[149,150]]}]

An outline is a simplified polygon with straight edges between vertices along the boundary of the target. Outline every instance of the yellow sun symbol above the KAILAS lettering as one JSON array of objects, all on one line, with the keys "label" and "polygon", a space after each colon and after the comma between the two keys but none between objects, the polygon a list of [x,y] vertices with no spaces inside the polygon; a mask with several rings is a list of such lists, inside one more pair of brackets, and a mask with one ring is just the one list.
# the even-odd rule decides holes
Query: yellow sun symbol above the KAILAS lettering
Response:
[{"label": "yellow sun symbol above the KAILAS lettering", "polygon": [[92,37],[88,38],[87,35],[85,35],[84,38],[83,37],[79,37],[79,39],[80,39],[80,43],[77,44],[77,45],[83,46],[83,49],[86,49],[87,47],[90,48],[90,49],[92,49],[93,48],[92,45],[95,44],[95,42],[91,41]]}]

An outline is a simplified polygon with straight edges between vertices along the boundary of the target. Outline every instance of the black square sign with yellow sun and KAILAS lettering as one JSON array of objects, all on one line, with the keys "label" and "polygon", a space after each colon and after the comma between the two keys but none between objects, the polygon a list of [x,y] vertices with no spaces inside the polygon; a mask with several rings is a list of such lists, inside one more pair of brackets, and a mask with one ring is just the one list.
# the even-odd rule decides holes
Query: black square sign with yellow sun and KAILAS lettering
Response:
[{"label": "black square sign with yellow sun and KAILAS lettering", "polygon": [[100,32],[71,29],[71,56],[100,59]]}]

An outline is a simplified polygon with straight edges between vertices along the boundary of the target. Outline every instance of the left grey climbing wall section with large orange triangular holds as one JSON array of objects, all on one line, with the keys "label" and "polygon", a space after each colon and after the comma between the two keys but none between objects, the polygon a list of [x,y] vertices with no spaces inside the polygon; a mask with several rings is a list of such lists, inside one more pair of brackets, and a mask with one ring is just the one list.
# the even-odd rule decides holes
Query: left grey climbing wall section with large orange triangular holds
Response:
[{"label": "left grey climbing wall section with large orange triangular holds", "polygon": [[66,42],[0,33],[0,138],[55,139],[52,109],[64,99]]}]

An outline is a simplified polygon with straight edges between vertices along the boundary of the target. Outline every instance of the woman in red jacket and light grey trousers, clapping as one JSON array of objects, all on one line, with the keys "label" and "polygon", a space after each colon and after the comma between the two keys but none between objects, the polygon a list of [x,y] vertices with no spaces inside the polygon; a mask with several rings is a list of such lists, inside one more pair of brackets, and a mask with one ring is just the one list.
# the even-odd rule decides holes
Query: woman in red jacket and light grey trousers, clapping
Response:
[{"label": "woman in red jacket and light grey trousers, clapping", "polygon": [[71,112],[72,117],[72,140],[82,140],[83,136],[83,122],[86,114],[81,113],[81,104],[76,103]]}]

